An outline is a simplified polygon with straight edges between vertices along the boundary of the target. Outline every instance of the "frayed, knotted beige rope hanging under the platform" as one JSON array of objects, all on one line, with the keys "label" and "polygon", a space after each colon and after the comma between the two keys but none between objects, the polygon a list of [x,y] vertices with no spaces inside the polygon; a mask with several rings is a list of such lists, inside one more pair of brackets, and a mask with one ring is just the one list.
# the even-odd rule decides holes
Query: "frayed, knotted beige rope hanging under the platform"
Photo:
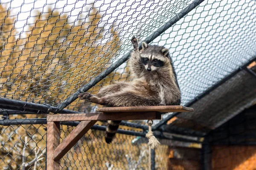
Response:
[{"label": "frayed, knotted beige rope hanging under the platform", "polygon": [[[151,121],[151,122],[149,122]],[[154,137],[153,132],[151,130],[151,126],[153,124],[153,120],[148,120],[148,133],[146,134],[146,138],[148,138],[148,170],[151,170],[151,149],[154,149],[160,145],[160,142]]]}]

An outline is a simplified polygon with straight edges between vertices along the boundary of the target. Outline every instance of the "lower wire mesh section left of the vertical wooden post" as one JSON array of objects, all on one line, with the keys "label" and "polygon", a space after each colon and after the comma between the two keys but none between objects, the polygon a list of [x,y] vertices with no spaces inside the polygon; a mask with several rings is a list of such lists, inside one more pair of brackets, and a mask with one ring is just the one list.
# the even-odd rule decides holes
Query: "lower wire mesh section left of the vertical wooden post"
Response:
[{"label": "lower wire mesh section left of the vertical wooden post", "polygon": [[46,126],[0,126],[0,169],[45,169]]}]

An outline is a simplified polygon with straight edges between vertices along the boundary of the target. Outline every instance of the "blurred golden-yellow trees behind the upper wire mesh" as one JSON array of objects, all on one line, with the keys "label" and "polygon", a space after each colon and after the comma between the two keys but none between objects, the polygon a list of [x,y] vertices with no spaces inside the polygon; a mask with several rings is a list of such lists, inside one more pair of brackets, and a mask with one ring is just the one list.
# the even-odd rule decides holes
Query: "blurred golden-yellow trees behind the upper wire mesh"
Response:
[{"label": "blurred golden-yellow trees behind the upper wire mesh", "polygon": [[[4,18],[5,13],[1,14]],[[38,12],[26,37],[16,41],[11,35],[15,32],[13,19],[1,20],[9,33],[2,34],[7,40],[2,39],[6,45],[0,62],[6,66],[0,68],[1,96],[56,105],[109,65],[120,47],[115,27],[111,26],[109,32],[100,27],[102,15],[96,9],[90,12],[89,21],[77,26],[69,24],[67,18],[50,9]],[[120,75],[109,77],[105,82]],[[11,84],[9,89],[7,84]],[[96,87],[93,91],[100,88]]]}]

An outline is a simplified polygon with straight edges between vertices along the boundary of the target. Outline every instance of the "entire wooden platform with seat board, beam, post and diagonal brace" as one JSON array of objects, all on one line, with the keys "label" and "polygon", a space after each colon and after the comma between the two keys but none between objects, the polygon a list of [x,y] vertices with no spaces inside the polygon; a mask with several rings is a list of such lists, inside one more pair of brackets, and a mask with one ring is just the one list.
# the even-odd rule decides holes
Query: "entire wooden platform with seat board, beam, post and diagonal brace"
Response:
[{"label": "entire wooden platform with seat board, beam, post and diagonal brace", "polygon": [[[97,122],[106,120],[156,120],[161,113],[192,112],[194,109],[183,106],[149,107],[102,107],[102,113],[73,113],[47,115],[47,170],[59,170],[61,158]],[[60,122],[81,121],[60,143]]]}]

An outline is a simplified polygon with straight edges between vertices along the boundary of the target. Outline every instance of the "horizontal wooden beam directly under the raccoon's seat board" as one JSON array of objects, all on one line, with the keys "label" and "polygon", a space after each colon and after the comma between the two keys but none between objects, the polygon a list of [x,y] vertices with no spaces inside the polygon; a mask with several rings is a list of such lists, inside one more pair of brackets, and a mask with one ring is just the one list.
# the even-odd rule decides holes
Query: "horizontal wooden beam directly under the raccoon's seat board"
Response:
[{"label": "horizontal wooden beam directly under the raccoon's seat board", "polygon": [[108,112],[108,113],[72,113],[47,115],[47,121],[111,121],[111,120],[148,120],[161,119],[158,112]]}]

